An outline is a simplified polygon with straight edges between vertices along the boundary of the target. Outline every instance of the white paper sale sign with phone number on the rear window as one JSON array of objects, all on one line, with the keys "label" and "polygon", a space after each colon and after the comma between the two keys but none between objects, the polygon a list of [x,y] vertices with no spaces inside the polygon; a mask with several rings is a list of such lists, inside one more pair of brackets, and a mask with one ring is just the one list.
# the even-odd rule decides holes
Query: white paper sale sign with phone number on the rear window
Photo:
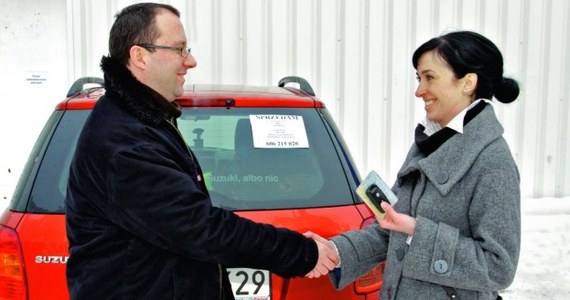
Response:
[{"label": "white paper sale sign with phone number on the rear window", "polygon": [[309,148],[303,116],[250,115],[254,148]]}]

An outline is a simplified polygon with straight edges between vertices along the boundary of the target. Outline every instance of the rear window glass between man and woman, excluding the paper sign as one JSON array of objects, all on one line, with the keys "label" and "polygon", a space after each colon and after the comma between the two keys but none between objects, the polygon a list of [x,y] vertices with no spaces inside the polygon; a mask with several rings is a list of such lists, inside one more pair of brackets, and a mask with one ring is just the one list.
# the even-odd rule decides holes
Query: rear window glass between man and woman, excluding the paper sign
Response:
[{"label": "rear window glass between man and woman, excluding the paper sign", "polygon": [[[302,117],[309,146],[254,147],[250,116],[257,115]],[[214,205],[268,209],[352,202],[317,110],[185,109],[178,128],[200,162]]]}]

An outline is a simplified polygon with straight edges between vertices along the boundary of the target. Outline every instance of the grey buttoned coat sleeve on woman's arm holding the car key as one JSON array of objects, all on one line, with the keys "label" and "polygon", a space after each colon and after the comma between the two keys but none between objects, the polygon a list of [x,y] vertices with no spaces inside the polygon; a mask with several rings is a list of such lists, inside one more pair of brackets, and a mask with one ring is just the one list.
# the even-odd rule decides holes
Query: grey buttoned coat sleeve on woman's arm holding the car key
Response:
[{"label": "grey buttoned coat sleeve on woman's arm holding the car key", "polygon": [[476,181],[465,220],[470,236],[418,215],[403,276],[476,291],[511,284],[520,251],[518,171],[505,159],[482,168]]}]

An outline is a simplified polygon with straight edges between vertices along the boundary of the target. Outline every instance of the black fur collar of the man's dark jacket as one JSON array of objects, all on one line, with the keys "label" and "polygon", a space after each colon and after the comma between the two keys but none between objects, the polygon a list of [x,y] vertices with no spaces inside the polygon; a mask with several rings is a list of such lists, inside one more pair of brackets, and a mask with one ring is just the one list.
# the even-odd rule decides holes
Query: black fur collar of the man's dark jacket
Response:
[{"label": "black fur collar of the man's dark jacket", "polygon": [[127,67],[114,58],[103,56],[101,70],[105,78],[105,95],[141,121],[158,125],[180,116],[180,106],[138,81]]}]

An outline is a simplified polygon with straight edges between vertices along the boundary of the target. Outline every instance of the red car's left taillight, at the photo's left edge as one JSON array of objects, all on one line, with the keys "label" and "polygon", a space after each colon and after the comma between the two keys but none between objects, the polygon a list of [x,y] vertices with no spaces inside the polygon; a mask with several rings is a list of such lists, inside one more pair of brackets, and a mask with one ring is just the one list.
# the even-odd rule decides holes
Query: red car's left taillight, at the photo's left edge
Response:
[{"label": "red car's left taillight, at the photo's left edge", "polygon": [[0,299],[26,299],[26,277],[16,232],[0,226]]}]

